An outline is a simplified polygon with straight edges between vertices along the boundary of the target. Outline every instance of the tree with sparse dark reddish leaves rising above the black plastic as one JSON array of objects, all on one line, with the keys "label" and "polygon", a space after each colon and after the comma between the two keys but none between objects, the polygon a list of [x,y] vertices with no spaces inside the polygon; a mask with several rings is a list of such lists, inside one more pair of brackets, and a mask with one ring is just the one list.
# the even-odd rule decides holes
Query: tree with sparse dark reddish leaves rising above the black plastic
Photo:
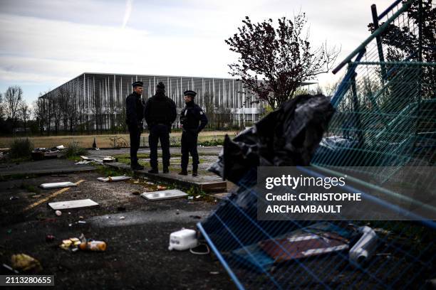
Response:
[{"label": "tree with sparse dark reddish leaves rising above the black plastic", "polygon": [[272,19],[251,23],[246,16],[239,32],[225,41],[239,54],[237,63],[229,65],[231,75],[256,93],[256,102],[267,102],[273,109],[293,97],[301,82],[328,73],[339,53],[326,43],[311,47],[308,33],[303,35],[305,14],[278,21],[274,28]]}]

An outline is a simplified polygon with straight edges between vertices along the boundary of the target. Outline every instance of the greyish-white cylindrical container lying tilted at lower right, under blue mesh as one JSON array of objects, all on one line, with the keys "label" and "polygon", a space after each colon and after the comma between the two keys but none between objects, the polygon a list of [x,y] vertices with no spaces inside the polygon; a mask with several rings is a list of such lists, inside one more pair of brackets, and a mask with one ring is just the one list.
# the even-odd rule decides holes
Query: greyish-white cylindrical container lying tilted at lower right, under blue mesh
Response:
[{"label": "greyish-white cylindrical container lying tilted at lower right, under blue mesh", "polygon": [[375,252],[377,247],[377,234],[374,230],[366,225],[358,228],[363,235],[360,240],[348,252],[348,257],[352,264],[361,265],[365,263]]}]

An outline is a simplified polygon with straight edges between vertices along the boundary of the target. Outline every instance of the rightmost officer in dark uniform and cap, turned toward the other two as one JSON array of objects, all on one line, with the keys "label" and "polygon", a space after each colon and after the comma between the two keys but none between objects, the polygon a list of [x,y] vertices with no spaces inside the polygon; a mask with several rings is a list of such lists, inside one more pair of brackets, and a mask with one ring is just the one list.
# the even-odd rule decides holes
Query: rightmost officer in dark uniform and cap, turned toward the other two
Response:
[{"label": "rightmost officer in dark uniform and cap, turned toward the other two", "polygon": [[198,175],[197,137],[200,131],[207,125],[207,117],[202,108],[194,103],[197,92],[187,90],[185,95],[185,108],[180,113],[182,124],[182,171],[180,175],[187,175],[187,163],[192,156],[192,176]]}]

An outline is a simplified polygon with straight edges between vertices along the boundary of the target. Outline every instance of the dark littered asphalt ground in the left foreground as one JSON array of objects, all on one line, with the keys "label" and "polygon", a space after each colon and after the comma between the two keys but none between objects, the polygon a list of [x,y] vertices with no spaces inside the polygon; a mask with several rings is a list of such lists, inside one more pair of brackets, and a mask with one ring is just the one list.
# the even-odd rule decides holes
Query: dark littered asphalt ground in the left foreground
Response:
[{"label": "dark littered asphalt ground in the left foreground", "polygon": [[[55,275],[56,289],[234,289],[211,255],[167,249],[170,233],[194,229],[214,208],[213,198],[150,202],[134,193],[155,190],[156,185],[142,179],[102,183],[98,177],[92,172],[0,182],[0,262],[11,264],[12,254],[28,254],[41,262],[42,274]],[[60,181],[81,183],[62,193],[37,188]],[[63,210],[61,216],[47,206],[85,198],[99,206]],[[82,233],[105,241],[108,249],[67,252],[58,247],[61,240]],[[46,242],[46,235],[56,240]],[[0,274],[11,273],[1,267]]]}]

